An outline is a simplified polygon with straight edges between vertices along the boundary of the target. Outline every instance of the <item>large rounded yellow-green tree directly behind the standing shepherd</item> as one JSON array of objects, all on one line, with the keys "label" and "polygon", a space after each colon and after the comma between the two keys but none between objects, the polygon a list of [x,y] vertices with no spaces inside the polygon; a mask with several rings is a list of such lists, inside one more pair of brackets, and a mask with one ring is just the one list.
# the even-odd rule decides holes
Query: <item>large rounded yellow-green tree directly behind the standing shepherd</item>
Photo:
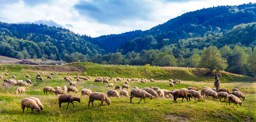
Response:
[{"label": "large rounded yellow-green tree directly behind the standing shepherd", "polygon": [[227,60],[221,57],[221,53],[215,46],[204,47],[200,61],[202,68],[213,70],[224,70],[227,68]]}]

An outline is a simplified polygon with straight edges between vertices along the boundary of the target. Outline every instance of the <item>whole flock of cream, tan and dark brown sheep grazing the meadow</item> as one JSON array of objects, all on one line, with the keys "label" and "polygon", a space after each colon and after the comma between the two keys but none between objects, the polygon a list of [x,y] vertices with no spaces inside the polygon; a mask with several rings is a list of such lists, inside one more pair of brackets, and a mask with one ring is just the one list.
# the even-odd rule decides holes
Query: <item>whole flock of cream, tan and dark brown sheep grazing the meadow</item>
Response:
[{"label": "whole flock of cream, tan and dark brown sheep grazing the meadow", "polygon": [[[43,72],[42,72],[43,73]],[[9,76],[8,73],[6,73],[5,75]],[[55,75],[54,73],[51,73],[51,75]],[[2,74],[0,75],[0,78],[3,79],[3,72]],[[17,90],[15,91],[15,94],[25,94],[25,88],[22,87],[22,86],[29,86],[28,83],[32,83],[31,80],[29,79],[26,79],[26,82],[24,82],[23,80],[15,80],[16,77],[15,75],[12,75],[12,78],[14,79],[4,79],[4,83],[2,84],[3,86],[5,87],[8,87],[8,84],[12,84],[12,85],[17,85],[17,86],[20,86],[19,88],[17,88]],[[25,78],[30,78],[29,75],[25,75]],[[81,80],[84,80],[84,81],[89,81],[90,80],[90,77],[89,76],[86,76],[86,77],[82,77],[82,76],[79,76],[79,75],[76,75],[74,77],[76,79],[76,82],[75,81],[71,81],[73,80],[72,77],[64,77],[64,80],[65,81],[69,81],[70,83],[70,86],[67,87],[67,86],[63,86],[63,88],[59,87],[59,86],[56,86],[55,89],[53,89],[52,87],[49,87],[49,86],[45,86],[43,88],[43,91],[44,91],[44,94],[48,94],[47,92],[50,93],[54,93],[56,95],[56,97],[58,97],[58,94],[60,94],[60,96],[58,97],[58,103],[59,103],[59,107],[61,108],[61,103],[72,103],[73,104],[73,101],[78,101],[80,103],[80,98],[79,97],[73,97],[71,95],[68,95],[67,93],[69,92],[75,92],[77,93],[78,90],[76,89],[76,85],[79,83],[79,81]],[[38,72],[38,75],[36,76],[36,80],[41,80],[41,81],[44,81],[44,78],[42,78],[40,76],[40,73]],[[52,79],[51,76],[47,76],[47,79]],[[113,86],[114,86],[114,83],[109,83],[111,82],[111,80],[113,80],[114,83],[116,83],[117,81],[119,82],[122,82],[122,81],[125,81],[125,84],[122,85],[122,90],[120,90],[120,86],[116,85],[114,87],[114,90],[113,89]],[[102,103],[100,105],[103,106],[103,102],[105,101],[105,103],[107,103],[108,105],[111,103],[111,100],[109,99],[110,97],[122,97],[122,95],[124,97],[129,97],[129,94],[127,91],[125,91],[124,89],[129,89],[131,88],[131,86],[128,85],[129,82],[138,82],[138,78],[131,78],[131,79],[126,79],[125,78],[108,78],[108,77],[97,77],[96,75],[96,79],[94,80],[95,83],[107,83],[107,86],[106,88],[112,88],[111,90],[108,90],[108,93],[107,95],[105,93],[101,93],[101,92],[92,92],[90,89],[82,89],[81,90],[81,96],[84,96],[84,95],[88,95],[89,96],[89,102],[88,102],[88,107],[90,106],[90,103],[92,103],[92,105],[94,106],[93,104],[93,101],[94,100],[100,100]],[[140,80],[140,83],[146,83],[148,80],[147,79],[141,79]],[[154,79],[150,79],[150,82],[155,82]],[[173,87],[174,84],[176,83],[180,83],[181,81],[180,80],[172,80],[172,79],[169,79],[169,82],[170,83],[170,87]],[[8,84],[7,84],[8,83]],[[120,90],[119,93],[116,91],[116,90]],[[239,89],[236,89],[234,88],[232,90],[233,92],[230,92],[229,89],[219,89],[218,92],[216,91],[215,88],[210,88],[208,86],[204,86],[202,89],[201,89],[201,93],[198,92],[198,89],[194,88],[194,87],[188,87],[188,89],[186,88],[182,88],[182,89],[172,89],[172,91],[169,91],[169,90],[166,90],[166,89],[160,89],[158,87],[144,87],[142,89],[139,89],[137,86],[135,86],[133,89],[131,89],[131,92],[130,92],[130,103],[132,103],[132,98],[134,97],[137,97],[137,98],[140,98],[140,102],[142,101],[142,99],[144,100],[144,103],[145,102],[145,98],[150,98],[152,99],[153,97],[156,97],[156,98],[173,98],[174,101],[173,103],[177,103],[177,98],[182,98],[181,102],[183,102],[183,99],[185,98],[187,100],[187,102],[190,101],[190,98],[192,97],[195,97],[195,100],[196,98],[198,99],[204,99],[204,98],[207,98],[209,99],[209,97],[212,97],[212,100],[214,100],[214,98],[218,99],[221,101],[221,98],[224,98],[224,100],[227,101],[227,103],[230,104],[231,103],[234,103],[234,105],[237,106],[237,104],[239,105],[242,105],[242,102],[241,102],[241,98],[243,100],[245,100],[245,97],[244,95],[242,94],[242,92],[239,91]],[[204,98],[203,98],[203,97]],[[239,99],[240,98],[240,99]],[[139,103],[140,103],[139,102]],[[67,105],[67,108],[68,108],[68,105]],[[233,106],[234,106],[233,105]],[[23,98],[21,100],[21,106],[22,106],[22,109],[23,109],[23,112],[24,112],[24,108],[27,107],[27,108],[31,108],[32,110],[32,113],[33,113],[33,110],[35,109],[35,111],[37,111],[38,113],[40,112],[40,110],[43,110],[44,106],[41,104],[40,100],[38,98],[35,98],[35,97],[28,97],[28,98]],[[74,104],[73,104],[73,107],[74,107]],[[238,106],[237,106],[238,107]],[[75,108],[75,107],[74,107]]]}]

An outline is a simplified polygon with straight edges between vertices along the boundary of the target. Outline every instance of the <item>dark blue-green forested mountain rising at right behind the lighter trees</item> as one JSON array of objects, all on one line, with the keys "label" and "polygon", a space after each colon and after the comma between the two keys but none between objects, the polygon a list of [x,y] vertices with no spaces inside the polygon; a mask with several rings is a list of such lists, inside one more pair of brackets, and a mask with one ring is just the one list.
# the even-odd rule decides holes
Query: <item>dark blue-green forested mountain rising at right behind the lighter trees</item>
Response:
[{"label": "dark blue-green forested mountain rising at right behind the lighter trees", "polygon": [[[205,37],[212,33],[226,33],[235,25],[256,22],[256,4],[239,6],[218,6],[188,12],[157,25],[146,31],[131,31],[95,38],[107,52],[122,50],[160,49],[169,44],[177,44],[179,39]],[[213,34],[212,34],[213,35]],[[239,42],[232,42],[236,44]],[[109,45],[111,44],[111,49]],[[138,49],[138,50],[137,50]]]}]

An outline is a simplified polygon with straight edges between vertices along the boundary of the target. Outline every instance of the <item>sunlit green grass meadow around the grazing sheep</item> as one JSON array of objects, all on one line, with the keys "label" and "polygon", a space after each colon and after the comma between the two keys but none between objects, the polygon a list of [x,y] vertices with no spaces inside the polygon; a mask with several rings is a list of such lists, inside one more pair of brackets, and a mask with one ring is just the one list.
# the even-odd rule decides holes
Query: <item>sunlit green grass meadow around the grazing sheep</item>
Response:
[{"label": "sunlit green grass meadow around the grazing sheep", "polygon": [[[146,98],[137,104],[140,99],[133,99],[130,103],[129,98],[113,98],[111,104],[105,102],[103,106],[99,106],[100,101],[95,101],[95,106],[88,107],[89,97],[81,97],[81,89],[91,89],[93,92],[103,92],[107,94],[111,88],[106,88],[107,84],[93,83],[95,74],[97,76],[121,77],[121,78],[150,78],[157,79],[156,82],[141,84],[139,82],[129,83],[142,89],[143,87],[157,86],[160,89],[181,89],[193,86],[201,91],[203,86],[213,86],[212,76],[204,75],[204,69],[188,69],[177,67],[137,67],[137,66],[117,66],[117,65],[99,65],[92,63],[73,63],[64,66],[29,66],[29,65],[0,65],[0,72],[7,72],[10,76],[3,78],[11,79],[11,75],[15,75],[17,79],[26,80],[25,74],[30,75],[32,84],[26,88],[26,94],[14,94],[18,86],[3,87],[0,85],[0,122],[22,121],[22,122],[247,122],[256,121],[256,83],[254,78],[221,72],[221,88],[232,90],[238,88],[246,97],[242,106],[238,108],[226,105],[225,102],[209,100],[191,99],[190,102],[181,98],[177,99],[177,103],[173,103],[173,99]],[[44,72],[42,77],[44,82],[36,81],[37,72]],[[51,72],[53,80],[47,80],[47,76]],[[201,73],[199,73],[201,72]],[[75,97],[81,98],[81,103],[74,102],[67,108],[67,103],[62,103],[62,108],[58,108],[58,98],[55,94],[45,94],[44,86],[69,86],[64,81],[64,76],[74,77],[76,74],[81,76],[88,75],[91,77],[89,81],[81,81],[76,87],[79,92],[72,93]],[[168,79],[181,79],[180,84],[169,87]],[[0,80],[3,83],[3,80]],[[113,83],[113,80],[111,80]],[[114,83],[114,86],[122,86],[124,82]],[[119,90],[117,90],[119,92]],[[130,95],[131,89],[128,89]],[[21,100],[24,97],[38,97],[44,105],[44,110],[40,114],[31,113],[31,109],[22,113]]]}]

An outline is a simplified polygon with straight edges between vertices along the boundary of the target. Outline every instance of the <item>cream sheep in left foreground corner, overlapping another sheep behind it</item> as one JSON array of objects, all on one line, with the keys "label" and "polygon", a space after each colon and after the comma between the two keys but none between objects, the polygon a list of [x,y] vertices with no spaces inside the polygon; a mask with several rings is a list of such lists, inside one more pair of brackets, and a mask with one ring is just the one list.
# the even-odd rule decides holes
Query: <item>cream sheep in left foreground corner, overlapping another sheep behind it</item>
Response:
[{"label": "cream sheep in left foreground corner, overlapping another sheep behind it", "polygon": [[41,109],[41,108],[38,106],[38,104],[36,103],[35,100],[30,99],[30,98],[23,98],[23,99],[21,100],[21,108],[22,108],[23,113],[24,113],[24,109],[25,109],[26,107],[27,107],[27,108],[31,108],[32,113],[34,112],[34,109],[35,109],[35,111],[37,111],[38,113],[40,112],[40,109]]}]

